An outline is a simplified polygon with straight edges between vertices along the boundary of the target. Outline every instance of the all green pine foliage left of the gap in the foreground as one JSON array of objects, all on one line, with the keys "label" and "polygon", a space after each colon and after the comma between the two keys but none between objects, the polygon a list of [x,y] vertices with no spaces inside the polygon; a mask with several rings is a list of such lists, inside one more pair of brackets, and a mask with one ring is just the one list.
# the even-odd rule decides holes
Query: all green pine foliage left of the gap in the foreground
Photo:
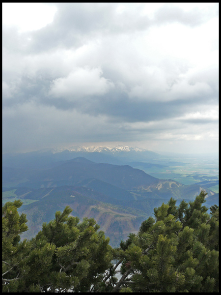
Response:
[{"label": "all green pine foliage left of the gap in the foreground", "polygon": [[20,241],[28,230],[19,215],[21,201],[2,207],[3,292],[88,292],[111,266],[111,246],[93,218],[69,216],[66,207],[44,223],[30,241]]}]

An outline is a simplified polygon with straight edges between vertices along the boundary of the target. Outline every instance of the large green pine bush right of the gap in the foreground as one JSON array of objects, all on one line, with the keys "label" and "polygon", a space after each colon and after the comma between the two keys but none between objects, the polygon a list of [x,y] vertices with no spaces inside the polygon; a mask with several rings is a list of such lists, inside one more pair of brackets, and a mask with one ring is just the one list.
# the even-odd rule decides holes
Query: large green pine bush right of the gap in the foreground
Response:
[{"label": "large green pine bush right of the gap in the foreground", "polygon": [[219,207],[208,214],[205,196],[178,207],[171,198],[121,241],[122,277],[110,292],[219,292]]}]

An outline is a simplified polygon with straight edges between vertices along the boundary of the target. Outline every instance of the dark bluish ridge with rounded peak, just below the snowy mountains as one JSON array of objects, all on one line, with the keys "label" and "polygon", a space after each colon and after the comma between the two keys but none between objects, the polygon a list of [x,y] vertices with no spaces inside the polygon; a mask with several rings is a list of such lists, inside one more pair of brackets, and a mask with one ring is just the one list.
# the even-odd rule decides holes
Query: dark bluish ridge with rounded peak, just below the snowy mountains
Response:
[{"label": "dark bluish ridge with rounded peak, just below the snowy mountains", "polygon": [[[2,172],[3,179],[12,181],[12,177],[9,179],[10,173],[8,173],[7,177],[5,176],[6,170]],[[13,171],[11,174],[13,174]],[[16,177],[18,177],[16,180],[23,183],[20,183],[19,186],[35,188],[79,185],[85,179],[96,178],[121,189],[130,190],[140,185],[149,185],[158,181],[158,178],[128,165],[97,164],[80,157],[66,161],[60,166],[32,171],[29,174],[27,171],[17,169]],[[5,183],[4,186],[6,186]]]}]

